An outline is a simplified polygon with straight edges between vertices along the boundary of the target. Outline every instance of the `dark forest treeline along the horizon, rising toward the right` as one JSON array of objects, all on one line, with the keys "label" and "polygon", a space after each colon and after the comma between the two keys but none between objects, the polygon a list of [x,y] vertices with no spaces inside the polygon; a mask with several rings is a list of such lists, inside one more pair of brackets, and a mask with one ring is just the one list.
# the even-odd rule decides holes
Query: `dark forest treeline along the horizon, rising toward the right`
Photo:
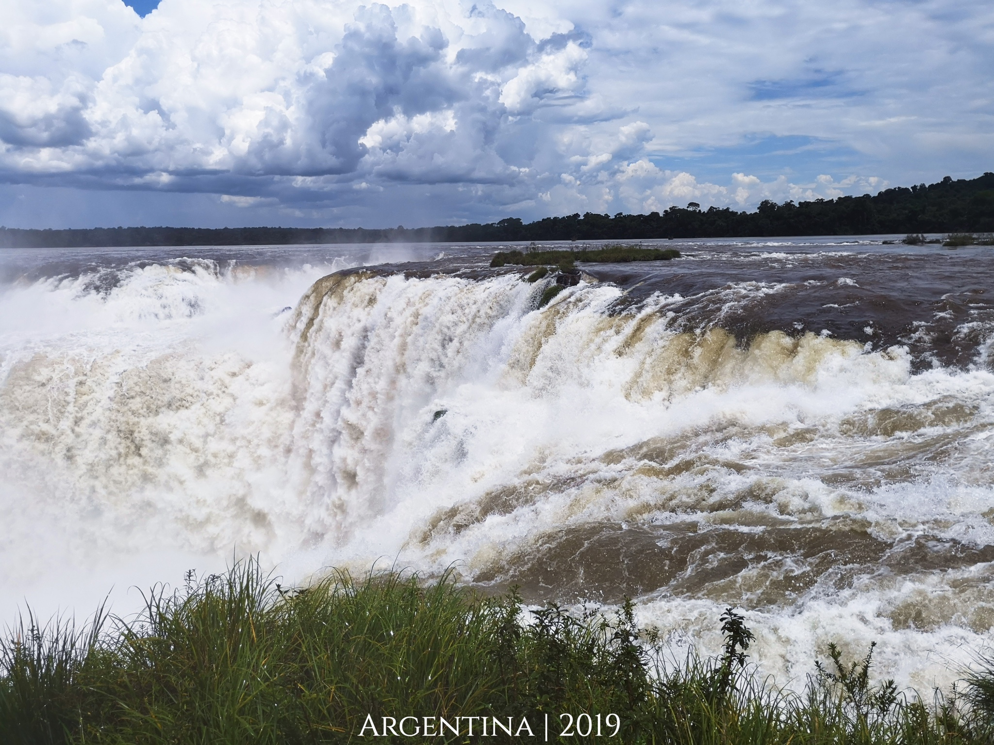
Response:
[{"label": "dark forest treeline along the horizon, rising toward the right", "polygon": [[523,223],[434,227],[94,227],[21,229],[0,227],[0,247],[139,245],[267,245],[374,242],[484,242],[702,238],[759,235],[854,235],[876,233],[994,231],[994,173],[976,179],[946,176],[935,184],[896,187],[875,197],[813,202],[766,200],[755,212],[702,210],[696,203],[648,215],[545,218]]}]

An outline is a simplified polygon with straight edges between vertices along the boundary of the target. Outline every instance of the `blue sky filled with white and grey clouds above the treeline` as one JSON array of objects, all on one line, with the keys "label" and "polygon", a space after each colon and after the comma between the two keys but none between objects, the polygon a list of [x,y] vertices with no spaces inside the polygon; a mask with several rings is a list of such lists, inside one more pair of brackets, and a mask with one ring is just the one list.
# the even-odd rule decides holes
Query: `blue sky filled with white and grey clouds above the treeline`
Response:
[{"label": "blue sky filled with white and grey clouds above the treeline", "polygon": [[0,224],[737,210],[994,170],[979,0],[0,0]]}]

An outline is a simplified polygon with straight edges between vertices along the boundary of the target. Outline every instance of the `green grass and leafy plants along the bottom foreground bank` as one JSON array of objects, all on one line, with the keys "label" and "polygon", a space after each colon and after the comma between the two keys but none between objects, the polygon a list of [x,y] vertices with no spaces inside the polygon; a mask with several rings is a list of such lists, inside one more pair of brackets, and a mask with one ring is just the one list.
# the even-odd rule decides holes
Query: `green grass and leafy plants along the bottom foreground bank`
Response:
[{"label": "green grass and leafy plants along the bottom foreground bank", "polygon": [[[515,594],[480,597],[451,576],[422,584],[336,573],[287,592],[241,563],[152,594],[132,621],[98,613],[78,632],[29,618],[10,632],[0,644],[0,742],[367,742],[367,715],[378,727],[411,715],[510,716],[515,727],[524,716],[535,737],[498,729],[483,741],[527,743],[544,741],[546,713],[554,726],[563,713],[585,726],[583,712],[617,714],[613,741],[624,743],[994,742],[991,668],[954,700],[924,703],[871,683],[870,655],[847,663],[832,649],[802,693],[785,693],[746,666],[751,634],[731,609],[720,620],[724,653],[683,661],[636,628],[630,604],[581,618],[557,606],[528,623],[523,615]],[[476,739],[463,724],[458,738],[427,741]]]}]

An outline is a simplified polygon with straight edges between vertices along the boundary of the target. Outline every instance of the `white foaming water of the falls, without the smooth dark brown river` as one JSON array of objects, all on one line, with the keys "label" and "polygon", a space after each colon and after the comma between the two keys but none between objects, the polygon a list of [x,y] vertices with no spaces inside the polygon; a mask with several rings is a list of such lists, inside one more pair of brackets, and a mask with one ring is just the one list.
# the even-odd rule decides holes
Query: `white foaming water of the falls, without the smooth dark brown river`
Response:
[{"label": "white foaming water of the falls, without the smooth dark brown river", "polygon": [[[744,350],[719,329],[674,332],[672,297],[611,315],[609,285],[537,310],[543,284],[517,275],[356,275],[298,304],[322,273],[158,264],[104,289],[88,276],[0,293],[4,618],[24,597],[44,609],[92,592],[95,605],[101,581],[178,581],[249,551],[296,577],[387,556],[426,570],[457,561],[472,578],[552,527],[707,526],[736,510],[850,516],[885,540],[994,542],[991,373],[912,374],[900,348],[810,334]],[[719,305],[782,289],[730,285]],[[861,424],[937,399],[966,413],[889,434]],[[635,454],[655,441],[702,465],[664,473],[666,459]],[[861,473],[876,473],[887,453],[908,478],[819,477],[871,456],[885,465]],[[481,507],[501,490],[534,496]],[[833,634],[877,635],[905,683],[948,681],[935,661],[960,661],[958,645],[989,635],[986,617],[939,609],[928,631],[894,618],[915,588],[951,592],[951,577],[912,572],[907,587],[836,596],[819,585],[755,611],[756,657],[791,676]],[[704,630],[719,605],[653,596],[641,612]]]}]

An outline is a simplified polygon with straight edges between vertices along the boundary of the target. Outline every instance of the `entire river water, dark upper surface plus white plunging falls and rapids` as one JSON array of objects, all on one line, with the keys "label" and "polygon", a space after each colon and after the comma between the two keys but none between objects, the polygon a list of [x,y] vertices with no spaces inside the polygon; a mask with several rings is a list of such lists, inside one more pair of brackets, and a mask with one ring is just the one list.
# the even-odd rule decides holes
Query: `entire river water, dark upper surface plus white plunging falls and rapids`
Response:
[{"label": "entire river water, dark upper surface plus white plunging falls and rapids", "polygon": [[454,564],[949,684],[994,640],[994,253],[664,242],[545,308],[496,245],[0,252],[0,621]]}]

